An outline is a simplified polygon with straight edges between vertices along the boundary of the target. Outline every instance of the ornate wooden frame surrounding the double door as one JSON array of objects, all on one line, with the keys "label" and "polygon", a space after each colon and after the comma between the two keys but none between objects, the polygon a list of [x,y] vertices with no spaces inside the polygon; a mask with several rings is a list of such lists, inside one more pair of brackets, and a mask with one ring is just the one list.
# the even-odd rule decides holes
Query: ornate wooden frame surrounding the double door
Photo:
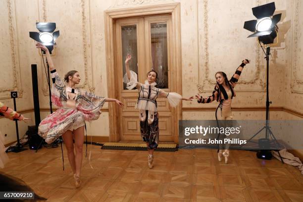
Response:
[{"label": "ornate wooden frame surrounding the double door", "polygon": [[[115,20],[119,18],[139,17],[171,14],[172,16],[172,66],[174,70],[172,75],[175,76],[174,89],[172,91],[182,94],[182,69],[181,69],[181,18],[180,3],[169,3],[133,8],[113,9],[104,12],[105,20],[105,48],[106,48],[106,70],[107,70],[107,92],[109,98],[116,98],[118,95],[115,88]],[[178,81],[178,83],[177,83]],[[174,142],[178,143],[178,120],[182,118],[182,103],[176,107],[176,117],[173,123],[175,127]],[[118,142],[120,140],[119,127],[119,109],[113,104],[108,104],[109,112],[109,142]]]}]

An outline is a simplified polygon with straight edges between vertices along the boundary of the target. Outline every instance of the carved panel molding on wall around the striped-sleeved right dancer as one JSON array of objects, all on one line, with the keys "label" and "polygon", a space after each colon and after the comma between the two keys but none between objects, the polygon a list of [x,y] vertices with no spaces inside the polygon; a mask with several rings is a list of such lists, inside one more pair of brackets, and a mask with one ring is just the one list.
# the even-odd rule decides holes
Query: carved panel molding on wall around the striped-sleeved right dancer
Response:
[{"label": "carved panel molding on wall around the striped-sleeved right dancer", "polygon": [[[257,0],[257,4],[259,4],[259,0]],[[199,15],[199,0],[197,0],[197,27],[198,27],[198,84],[197,88],[200,93],[204,92],[212,92],[213,86],[216,84],[216,81],[209,77],[209,42],[208,42],[208,0],[203,0],[203,48],[202,51],[200,51],[200,28],[199,28],[199,20],[201,19]],[[200,52],[203,52],[204,55],[200,54]],[[203,57],[204,62],[201,63],[201,57]],[[247,84],[256,84],[256,81],[259,81],[257,84],[260,86],[260,90],[237,90],[238,92],[264,92],[266,89],[266,83],[263,81],[263,79],[260,79],[260,66],[261,66],[261,57],[260,57],[260,50],[258,44],[256,44],[256,73],[253,77],[253,79],[247,81],[244,79],[239,80],[238,84],[240,85],[247,85]],[[202,67],[203,65],[203,67]],[[203,75],[205,75],[204,78],[202,78],[201,72],[204,72]],[[211,89],[205,89],[205,86],[212,85]]]}]

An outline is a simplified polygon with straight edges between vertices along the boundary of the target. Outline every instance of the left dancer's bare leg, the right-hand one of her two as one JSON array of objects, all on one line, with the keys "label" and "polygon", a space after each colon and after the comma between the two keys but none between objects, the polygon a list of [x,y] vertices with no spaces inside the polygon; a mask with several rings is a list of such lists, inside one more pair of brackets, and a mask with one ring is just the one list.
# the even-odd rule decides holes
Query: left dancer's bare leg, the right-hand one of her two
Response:
[{"label": "left dancer's bare leg, the right-hand one of her two", "polygon": [[76,148],[76,176],[80,176],[82,157],[83,157],[83,143],[84,143],[84,126],[77,128],[73,131]]}]

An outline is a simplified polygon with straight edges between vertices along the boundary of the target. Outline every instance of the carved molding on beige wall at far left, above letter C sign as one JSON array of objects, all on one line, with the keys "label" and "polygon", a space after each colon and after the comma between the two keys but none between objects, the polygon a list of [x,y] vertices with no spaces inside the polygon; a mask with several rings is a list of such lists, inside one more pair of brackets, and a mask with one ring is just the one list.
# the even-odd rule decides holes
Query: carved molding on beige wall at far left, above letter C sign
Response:
[{"label": "carved molding on beige wall at far left, above letter C sign", "polygon": [[[13,17],[12,14],[12,5],[11,0],[6,0],[7,4],[7,11],[8,11],[8,30],[9,30],[9,43],[10,43],[10,51],[11,51],[11,64],[12,64],[12,74],[13,78],[13,85],[12,87],[4,87],[0,88],[0,99],[9,99],[10,98],[10,92],[11,91],[18,91],[18,98],[22,98],[23,96],[23,89],[21,88],[21,74],[20,74],[20,63],[19,63],[19,46],[15,46],[15,35],[14,32],[17,32],[17,23],[16,23],[16,29],[14,30],[13,26],[13,20],[16,18]],[[15,5],[15,1],[14,1]],[[16,14],[16,11],[15,11]],[[18,42],[18,38],[16,37],[16,41]],[[17,47],[18,50],[15,50],[15,47]],[[18,67],[18,68],[17,68]],[[18,72],[19,70],[19,72]],[[19,77],[19,78],[18,78]],[[18,79],[20,82],[18,82]]]}]

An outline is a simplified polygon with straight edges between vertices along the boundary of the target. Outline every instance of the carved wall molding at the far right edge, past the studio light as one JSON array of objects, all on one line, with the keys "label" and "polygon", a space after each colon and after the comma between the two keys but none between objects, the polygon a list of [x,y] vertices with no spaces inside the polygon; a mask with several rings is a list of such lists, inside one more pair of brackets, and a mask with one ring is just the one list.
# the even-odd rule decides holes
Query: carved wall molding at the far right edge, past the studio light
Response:
[{"label": "carved wall molding at the far right edge, past the studio light", "polygon": [[303,94],[303,90],[296,90],[297,86],[302,87],[303,80],[298,75],[298,40],[300,32],[300,11],[301,11],[301,0],[294,0],[294,16],[293,16],[293,51],[292,51],[292,74],[291,74],[291,92]]}]

